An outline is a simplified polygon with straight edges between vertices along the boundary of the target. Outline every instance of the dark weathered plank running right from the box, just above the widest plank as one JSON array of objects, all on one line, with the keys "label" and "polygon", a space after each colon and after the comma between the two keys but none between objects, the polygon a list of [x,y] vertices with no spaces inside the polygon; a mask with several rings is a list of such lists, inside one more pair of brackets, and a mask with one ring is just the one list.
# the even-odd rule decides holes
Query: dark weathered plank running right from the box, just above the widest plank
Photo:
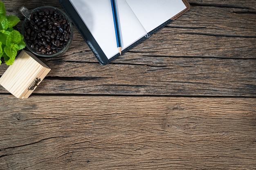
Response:
[{"label": "dark weathered plank running right from the box, just above the widest plank", "polygon": [[[256,60],[159,57],[157,62],[99,66],[48,60],[52,70],[34,93],[256,96]],[[0,87],[0,92],[7,91]]]}]

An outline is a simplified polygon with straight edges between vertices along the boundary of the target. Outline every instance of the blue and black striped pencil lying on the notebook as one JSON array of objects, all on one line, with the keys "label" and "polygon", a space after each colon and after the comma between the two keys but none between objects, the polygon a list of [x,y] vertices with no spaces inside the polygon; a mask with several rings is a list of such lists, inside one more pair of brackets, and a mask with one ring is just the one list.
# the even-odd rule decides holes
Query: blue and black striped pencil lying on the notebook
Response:
[{"label": "blue and black striped pencil lying on the notebook", "polygon": [[121,38],[120,38],[120,31],[119,31],[119,25],[118,25],[118,18],[117,18],[117,8],[115,4],[115,0],[111,0],[111,6],[112,6],[112,13],[113,13],[113,19],[114,19],[114,25],[115,25],[115,32],[116,32],[116,39],[117,39],[117,49],[121,55]]}]

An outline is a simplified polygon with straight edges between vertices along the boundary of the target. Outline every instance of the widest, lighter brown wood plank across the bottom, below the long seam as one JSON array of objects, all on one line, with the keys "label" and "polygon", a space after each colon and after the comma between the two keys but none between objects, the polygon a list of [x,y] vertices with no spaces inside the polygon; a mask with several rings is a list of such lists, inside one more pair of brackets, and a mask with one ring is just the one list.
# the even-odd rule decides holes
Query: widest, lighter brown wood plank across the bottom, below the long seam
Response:
[{"label": "widest, lighter brown wood plank across the bottom, below the long seam", "polygon": [[0,170],[256,168],[256,98],[0,101]]}]

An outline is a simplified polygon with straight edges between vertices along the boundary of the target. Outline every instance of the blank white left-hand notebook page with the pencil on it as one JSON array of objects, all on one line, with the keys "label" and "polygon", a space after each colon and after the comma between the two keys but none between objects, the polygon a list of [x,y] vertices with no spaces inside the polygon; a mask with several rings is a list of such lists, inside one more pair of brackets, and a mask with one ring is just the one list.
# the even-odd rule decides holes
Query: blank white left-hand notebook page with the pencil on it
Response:
[{"label": "blank white left-hand notebook page with the pencil on it", "polygon": [[[108,59],[119,53],[110,0],[70,0]],[[122,50],[146,35],[126,0],[117,0]]]}]

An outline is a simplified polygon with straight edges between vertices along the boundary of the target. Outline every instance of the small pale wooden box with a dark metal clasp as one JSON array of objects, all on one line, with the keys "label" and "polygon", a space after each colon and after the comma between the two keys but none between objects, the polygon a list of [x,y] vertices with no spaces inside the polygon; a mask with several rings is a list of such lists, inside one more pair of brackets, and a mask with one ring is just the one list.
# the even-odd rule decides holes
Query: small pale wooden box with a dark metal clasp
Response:
[{"label": "small pale wooden box with a dark metal clasp", "polygon": [[32,53],[22,50],[0,78],[0,85],[17,98],[28,98],[50,70]]}]

